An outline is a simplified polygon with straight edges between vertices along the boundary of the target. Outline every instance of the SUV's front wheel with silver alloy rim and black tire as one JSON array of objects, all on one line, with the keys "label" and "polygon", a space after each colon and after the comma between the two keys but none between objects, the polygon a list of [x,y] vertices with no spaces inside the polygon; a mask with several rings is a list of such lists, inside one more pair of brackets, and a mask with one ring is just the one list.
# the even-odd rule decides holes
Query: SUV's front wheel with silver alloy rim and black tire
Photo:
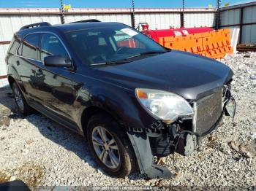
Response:
[{"label": "SUV's front wheel with silver alloy rim and black tire", "polygon": [[135,153],[126,133],[108,114],[91,117],[87,140],[94,160],[106,174],[123,178],[137,169]]}]

